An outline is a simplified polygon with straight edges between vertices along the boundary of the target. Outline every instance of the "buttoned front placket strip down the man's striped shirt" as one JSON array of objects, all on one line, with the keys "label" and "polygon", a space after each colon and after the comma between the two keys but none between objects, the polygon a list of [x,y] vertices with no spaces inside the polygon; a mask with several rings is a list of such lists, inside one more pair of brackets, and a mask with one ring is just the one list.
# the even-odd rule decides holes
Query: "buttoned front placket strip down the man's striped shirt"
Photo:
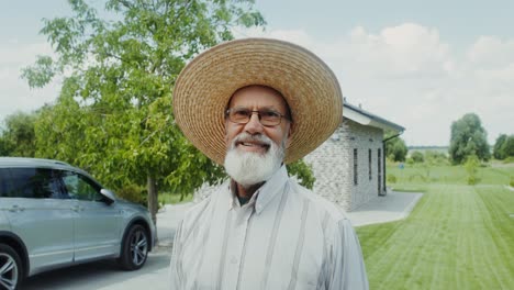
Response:
[{"label": "buttoned front placket strip down the man's striped shirt", "polygon": [[239,279],[241,264],[243,263],[243,253],[245,250],[246,233],[248,230],[249,219],[254,211],[252,204],[239,208],[234,207],[235,211],[232,215],[232,231],[228,242],[228,250],[226,260],[226,271],[224,272],[225,283],[223,289],[236,289]]}]

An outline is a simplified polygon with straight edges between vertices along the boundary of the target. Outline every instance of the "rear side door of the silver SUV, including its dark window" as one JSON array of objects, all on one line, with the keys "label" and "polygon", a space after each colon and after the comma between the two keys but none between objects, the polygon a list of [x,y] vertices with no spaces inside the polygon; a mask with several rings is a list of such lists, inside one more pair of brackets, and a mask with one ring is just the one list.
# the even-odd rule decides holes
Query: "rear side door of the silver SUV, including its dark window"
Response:
[{"label": "rear side door of the silver SUV, including its dark window", "polygon": [[69,264],[74,257],[71,204],[62,199],[63,188],[47,168],[0,168],[2,204],[11,231],[26,246],[31,274]]}]

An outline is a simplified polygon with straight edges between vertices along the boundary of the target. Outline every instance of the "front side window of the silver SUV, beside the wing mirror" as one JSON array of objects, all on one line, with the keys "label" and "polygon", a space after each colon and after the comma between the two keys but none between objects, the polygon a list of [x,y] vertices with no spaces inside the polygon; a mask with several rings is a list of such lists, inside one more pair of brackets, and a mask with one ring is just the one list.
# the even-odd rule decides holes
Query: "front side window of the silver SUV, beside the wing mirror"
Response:
[{"label": "front side window of the silver SUV, beside the wing mirror", "polygon": [[68,198],[89,201],[103,201],[100,187],[89,178],[71,171],[62,171]]}]

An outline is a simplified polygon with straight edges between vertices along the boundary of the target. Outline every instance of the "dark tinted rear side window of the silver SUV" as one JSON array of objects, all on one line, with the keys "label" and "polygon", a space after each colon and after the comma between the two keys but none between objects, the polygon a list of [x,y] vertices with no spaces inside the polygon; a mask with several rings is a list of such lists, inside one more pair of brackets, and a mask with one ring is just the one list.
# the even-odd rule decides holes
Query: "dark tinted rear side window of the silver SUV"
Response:
[{"label": "dark tinted rear side window of the silver SUV", "polygon": [[46,168],[1,168],[0,190],[4,198],[59,199],[58,177]]}]

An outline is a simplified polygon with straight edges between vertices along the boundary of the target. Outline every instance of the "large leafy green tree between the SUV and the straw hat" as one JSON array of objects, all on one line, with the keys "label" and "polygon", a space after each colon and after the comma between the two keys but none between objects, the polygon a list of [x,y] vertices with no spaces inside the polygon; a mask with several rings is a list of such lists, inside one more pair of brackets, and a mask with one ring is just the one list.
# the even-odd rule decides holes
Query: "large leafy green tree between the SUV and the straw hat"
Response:
[{"label": "large leafy green tree between the SUV and the straw hat", "polygon": [[174,122],[177,76],[199,52],[233,38],[232,27],[264,19],[253,0],[109,0],[109,20],[83,0],[69,3],[72,16],[44,20],[57,57],[40,56],[22,74],[31,87],[64,78],[56,104],[37,121],[37,155],[114,188],[146,186],[155,222],[159,189],[192,192],[223,177]]}]

